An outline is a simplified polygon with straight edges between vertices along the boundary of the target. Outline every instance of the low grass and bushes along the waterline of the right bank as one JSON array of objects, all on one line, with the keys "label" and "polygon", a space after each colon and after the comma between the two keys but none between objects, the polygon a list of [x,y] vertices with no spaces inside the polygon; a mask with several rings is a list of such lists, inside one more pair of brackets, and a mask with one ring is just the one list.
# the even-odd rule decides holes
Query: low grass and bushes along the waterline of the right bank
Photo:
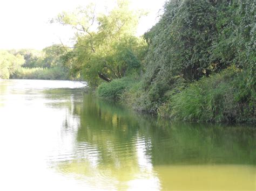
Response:
[{"label": "low grass and bushes along the waterline of the right bank", "polygon": [[117,79],[101,84],[96,95],[172,120],[255,123],[255,82],[248,76],[246,70],[228,68],[192,83],[177,77],[173,89],[161,97],[158,89],[145,91],[143,79]]}]

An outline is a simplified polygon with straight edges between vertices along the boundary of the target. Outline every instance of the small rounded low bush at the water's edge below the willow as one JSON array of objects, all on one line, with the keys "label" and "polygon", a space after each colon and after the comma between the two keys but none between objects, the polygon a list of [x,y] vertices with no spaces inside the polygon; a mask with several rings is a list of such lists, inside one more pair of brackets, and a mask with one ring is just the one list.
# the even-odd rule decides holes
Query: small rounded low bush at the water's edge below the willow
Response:
[{"label": "small rounded low bush at the water's edge below the willow", "polygon": [[109,83],[104,82],[97,88],[97,95],[101,98],[109,98],[119,100],[126,89],[131,87],[134,80],[128,77],[122,79],[115,79]]}]

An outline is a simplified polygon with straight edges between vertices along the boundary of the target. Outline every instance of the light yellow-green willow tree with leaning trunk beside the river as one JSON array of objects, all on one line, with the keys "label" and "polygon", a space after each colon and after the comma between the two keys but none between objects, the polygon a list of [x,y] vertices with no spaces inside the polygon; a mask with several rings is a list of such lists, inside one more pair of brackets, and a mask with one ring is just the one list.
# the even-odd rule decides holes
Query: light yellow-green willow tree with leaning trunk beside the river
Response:
[{"label": "light yellow-green willow tree with leaning trunk beside the river", "polygon": [[58,15],[57,21],[76,30],[76,44],[68,53],[71,73],[83,76],[91,86],[100,80],[110,82],[141,65],[145,43],[135,37],[143,14],[129,8],[127,1],[117,1],[108,13],[96,16],[96,7],[88,5]]}]

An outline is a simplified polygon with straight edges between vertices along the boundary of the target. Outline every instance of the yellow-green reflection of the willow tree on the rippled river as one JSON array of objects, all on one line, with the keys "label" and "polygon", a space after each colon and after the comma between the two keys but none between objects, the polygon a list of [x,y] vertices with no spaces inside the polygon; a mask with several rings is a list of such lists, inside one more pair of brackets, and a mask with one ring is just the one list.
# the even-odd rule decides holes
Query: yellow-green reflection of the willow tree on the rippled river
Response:
[{"label": "yellow-green reflection of the willow tree on the rippled river", "polygon": [[98,168],[119,181],[139,174],[136,144],[144,140],[138,129],[137,120],[123,108],[84,96],[77,142],[96,145]]}]

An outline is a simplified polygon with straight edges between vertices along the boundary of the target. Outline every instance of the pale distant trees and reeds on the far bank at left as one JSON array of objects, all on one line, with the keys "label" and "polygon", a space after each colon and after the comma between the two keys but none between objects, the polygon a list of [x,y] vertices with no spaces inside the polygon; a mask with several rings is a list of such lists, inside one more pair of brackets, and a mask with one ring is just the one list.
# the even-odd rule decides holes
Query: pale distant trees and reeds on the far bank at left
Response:
[{"label": "pale distant trees and reeds on the far bank at left", "polygon": [[64,66],[69,48],[52,45],[42,51],[19,49],[1,51],[2,79],[68,80],[69,70]]}]

